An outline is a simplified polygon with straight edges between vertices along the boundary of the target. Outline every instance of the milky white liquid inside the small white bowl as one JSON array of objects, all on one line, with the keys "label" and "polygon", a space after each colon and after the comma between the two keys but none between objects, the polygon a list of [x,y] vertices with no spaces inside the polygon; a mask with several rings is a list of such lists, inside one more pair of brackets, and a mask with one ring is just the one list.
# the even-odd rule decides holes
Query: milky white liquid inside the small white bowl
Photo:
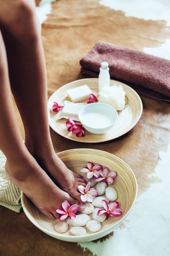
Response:
[{"label": "milky white liquid inside the small white bowl", "polygon": [[105,128],[111,126],[113,123],[108,113],[99,110],[91,110],[85,113],[82,117],[82,121],[85,125],[92,128]]}]

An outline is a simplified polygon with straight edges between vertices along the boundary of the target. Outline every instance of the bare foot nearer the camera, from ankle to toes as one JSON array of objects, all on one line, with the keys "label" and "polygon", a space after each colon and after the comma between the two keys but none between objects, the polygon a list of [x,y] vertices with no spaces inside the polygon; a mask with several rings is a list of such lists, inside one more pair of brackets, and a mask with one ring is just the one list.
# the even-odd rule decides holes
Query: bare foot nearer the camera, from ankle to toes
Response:
[{"label": "bare foot nearer the camera, from ankle to toes", "polygon": [[[67,200],[71,205],[80,204],[77,200],[59,189],[45,171],[31,156],[28,161],[15,166],[7,161],[5,172],[8,179],[21,189],[33,204],[50,219],[58,218],[56,209],[61,208],[61,202]],[[82,208],[80,208],[82,207]],[[82,210],[84,205],[79,205]]]}]

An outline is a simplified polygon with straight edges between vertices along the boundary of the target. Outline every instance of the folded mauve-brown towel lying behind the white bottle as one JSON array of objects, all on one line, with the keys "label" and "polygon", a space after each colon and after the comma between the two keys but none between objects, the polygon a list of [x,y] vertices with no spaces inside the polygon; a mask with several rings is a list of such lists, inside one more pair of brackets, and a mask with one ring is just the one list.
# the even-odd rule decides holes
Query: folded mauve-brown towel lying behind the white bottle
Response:
[{"label": "folded mauve-brown towel lying behind the white bottle", "polygon": [[109,63],[111,79],[170,105],[170,61],[131,48],[97,42],[80,60],[81,73],[98,77],[102,61]]}]

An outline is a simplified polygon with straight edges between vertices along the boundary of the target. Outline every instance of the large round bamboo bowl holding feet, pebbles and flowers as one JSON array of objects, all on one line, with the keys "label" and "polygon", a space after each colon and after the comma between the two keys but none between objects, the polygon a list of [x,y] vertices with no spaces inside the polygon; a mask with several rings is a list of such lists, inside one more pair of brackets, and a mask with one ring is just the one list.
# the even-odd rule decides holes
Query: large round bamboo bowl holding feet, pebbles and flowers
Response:
[{"label": "large round bamboo bowl holding feet, pebbles and flowers", "polygon": [[[70,233],[70,228],[72,226],[69,225],[68,231],[60,234],[54,230],[54,225],[58,223],[59,220],[50,220],[43,215],[22,192],[21,202],[25,214],[37,228],[46,234],[63,241],[87,242],[108,235],[121,225],[125,218],[127,218],[135,203],[137,197],[137,181],[133,171],[117,156],[97,149],[71,149],[60,152],[57,155],[69,169],[79,173],[81,176],[85,176],[85,174],[80,172],[80,169],[81,167],[86,166],[88,161],[93,162],[94,164],[100,163],[103,167],[108,167],[111,171],[116,171],[118,175],[115,178],[114,183],[109,186],[116,189],[118,193],[116,201],[119,202],[119,208],[123,211],[123,214],[120,217],[109,216],[108,220],[102,222],[102,228],[98,232],[90,232],[86,226],[84,226],[87,230],[87,235],[74,236]],[[92,220],[92,214],[89,216],[90,220]]]}]

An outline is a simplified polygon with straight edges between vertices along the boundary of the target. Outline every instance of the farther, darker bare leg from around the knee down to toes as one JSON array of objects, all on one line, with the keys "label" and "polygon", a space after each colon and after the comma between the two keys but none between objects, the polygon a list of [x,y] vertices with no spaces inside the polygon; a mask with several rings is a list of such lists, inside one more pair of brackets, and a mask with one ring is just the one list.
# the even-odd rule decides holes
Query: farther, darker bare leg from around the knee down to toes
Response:
[{"label": "farther, darker bare leg from around the knee down to toes", "polygon": [[18,27],[15,32],[14,26],[12,31],[5,27],[2,33],[8,55],[11,88],[24,123],[25,145],[54,182],[62,189],[67,189],[74,199],[81,201],[77,188],[86,183],[75,173],[73,179],[71,171],[56,156],[50,137],[46,65],[34,6],[30,8],[30,19],[24,19],[24,22],[24,28],[28,29],[22,31],[21,28],[22,36],[18,33]]}]

